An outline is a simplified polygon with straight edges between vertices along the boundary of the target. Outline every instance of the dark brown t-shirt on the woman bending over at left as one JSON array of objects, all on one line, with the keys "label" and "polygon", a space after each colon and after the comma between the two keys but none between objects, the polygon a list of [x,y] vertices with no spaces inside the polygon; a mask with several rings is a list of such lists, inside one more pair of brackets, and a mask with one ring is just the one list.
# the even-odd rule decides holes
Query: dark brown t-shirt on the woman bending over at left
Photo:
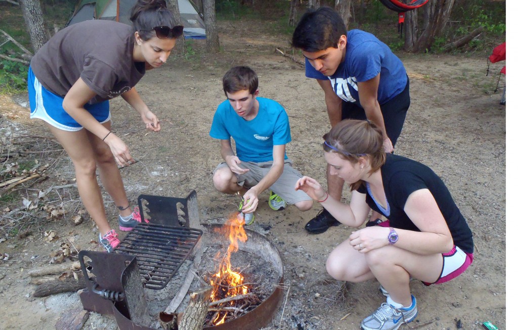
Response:
[{"label": "dark brown t-shirt on the woman bending over at left", "polygon": [[31,60],[39,82],[65,97],[79,79],[97,96],[97,103],[129,91],[146,72],[143,62],[133,62],[135,36],[129,25],[91,20],[57,32]]}]

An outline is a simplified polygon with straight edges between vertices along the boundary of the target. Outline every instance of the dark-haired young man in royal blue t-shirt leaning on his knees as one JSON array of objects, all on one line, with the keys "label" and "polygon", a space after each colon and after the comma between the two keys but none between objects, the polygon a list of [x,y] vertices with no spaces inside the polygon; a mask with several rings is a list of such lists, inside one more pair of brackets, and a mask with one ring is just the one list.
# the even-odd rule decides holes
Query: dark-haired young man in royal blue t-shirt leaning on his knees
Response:
[{"label": "dark-haired young man in royal blue t-shirt leaning on his knees", "polygon": [[[300,19],[293,47],[306,57],[306,77],[314,78],[324,91],[331,127],[342,119],[368,119],[382,131],[385,152],[394,152],[410,106],[405,67],[390,48],[370,33],[347,32],[339,14],[321,7]],[[340,200],[343,180],[329,174],[329,194]],[[373,212],[367,226],[378,222]],[[306,224],[311,233],[325,232],[340,222],[323,209]]]}]

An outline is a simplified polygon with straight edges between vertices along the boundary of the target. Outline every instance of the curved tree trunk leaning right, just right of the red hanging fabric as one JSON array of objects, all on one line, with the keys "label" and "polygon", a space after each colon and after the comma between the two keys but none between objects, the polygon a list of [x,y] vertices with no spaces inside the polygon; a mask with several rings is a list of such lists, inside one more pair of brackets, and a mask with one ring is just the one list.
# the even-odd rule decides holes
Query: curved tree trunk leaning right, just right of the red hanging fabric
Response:
[{"label": "curved tree trunk leaning right, just right of the red hanging fabric", "polygon": [[430,6],[429,23],[410,49],[411,52],[422,53],[430,49],[435,38],[441,35],[448,23],[454,2],[455,0],[430,0],[428,2],[427,6]]}]

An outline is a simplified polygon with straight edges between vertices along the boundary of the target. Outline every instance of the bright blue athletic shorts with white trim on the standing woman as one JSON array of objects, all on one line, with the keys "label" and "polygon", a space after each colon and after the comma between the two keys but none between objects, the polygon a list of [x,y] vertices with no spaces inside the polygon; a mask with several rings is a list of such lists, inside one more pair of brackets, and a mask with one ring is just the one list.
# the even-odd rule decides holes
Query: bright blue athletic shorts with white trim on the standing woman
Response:
[{"label": "bright blue athletic shorts with white trim on the standing woman", "polygon": [[[42,119],[64,131],[74,132],[83,128],[63,109],[63,98],[42,86],[38,78],[34,76],[31,67],[29,67],[27,75],[27,89],[31,118]],[[87,109],[101,124],[108,122],[111,118],[108,100],[95,104],[84,104],[84,109]]]}]

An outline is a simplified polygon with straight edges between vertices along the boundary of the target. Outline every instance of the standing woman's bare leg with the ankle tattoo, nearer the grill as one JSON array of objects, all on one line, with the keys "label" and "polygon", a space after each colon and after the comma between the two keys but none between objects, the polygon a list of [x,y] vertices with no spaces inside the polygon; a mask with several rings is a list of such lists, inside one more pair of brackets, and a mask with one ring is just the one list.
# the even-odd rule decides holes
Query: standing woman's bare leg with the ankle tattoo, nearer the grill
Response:
[{"label": "standing woman's bare leg with the ankle tattoo, nearer the grill", "polygon": [[[106,128],[110,129],[110,123],[103,124]],[[126,197],[126,191],[124,190],[124,184],[122,182],[121,173],[117,167],[117,163],[113,158],[113,154],[110,151],[110,147],[103,142],[103,140],[96,137],[94,134],[87,131],[87,137],[92,145],[93,152],[95,154],[95,160],[99,169],[100,181],[103,183],[104,188],[110,195],[111,199],[115,202],[115,205],[126,207],[129,205]],[[119,214],[123,217],[130,215],[133,212],[131,207],[119,210]]]}]

